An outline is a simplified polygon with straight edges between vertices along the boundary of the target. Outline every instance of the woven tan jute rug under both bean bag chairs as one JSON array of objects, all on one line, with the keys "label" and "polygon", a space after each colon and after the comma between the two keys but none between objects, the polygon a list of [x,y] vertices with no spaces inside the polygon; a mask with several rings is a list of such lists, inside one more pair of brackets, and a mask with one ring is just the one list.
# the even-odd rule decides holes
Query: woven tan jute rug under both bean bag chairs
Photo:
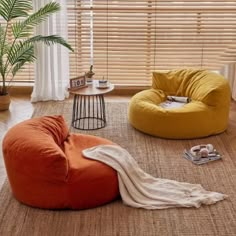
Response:
[{"label": "woven tan jute rug under both bean bag chairs", "polygon": [[[167,140],[143,134],[127,120],[128,103],[107,103],[107,126],[88,133],[126,148],[140,167],[159,177],[202,184],[229,198],[210,206],[166,210],[135,209],[116,200],[94,209],[42,210],[19,203],[6,180],[0,192],[0,235],[193,236],[236,235],[236,126],[204,139]],[[71,123],[72,101],[38,103],[34,117],[62,114]],[[158,125],[158,124],[156,124]],[[212,143],[223,159],[196,166],[182,157],[193,145]],[[22,163],[23,164],[23,163]],[[47,194],[47,193],[45,193]]]}]

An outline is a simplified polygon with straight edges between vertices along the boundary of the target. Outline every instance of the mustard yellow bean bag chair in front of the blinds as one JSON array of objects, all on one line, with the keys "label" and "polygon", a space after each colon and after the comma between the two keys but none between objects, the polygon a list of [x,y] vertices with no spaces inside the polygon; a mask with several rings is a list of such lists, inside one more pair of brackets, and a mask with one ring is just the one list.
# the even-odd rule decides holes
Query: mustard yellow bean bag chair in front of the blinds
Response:
[{"label": "mustard yellow bean bag chair in front of the blinds", "polygon": [[[167,96],[184,96],[190,103],[179,108],[159,104]],[[134,95],[129,121],[136,129],[172,139],[200,138],[227,128],[230,88],[219,74],[196,69],[153,72],[152,88]]]}]

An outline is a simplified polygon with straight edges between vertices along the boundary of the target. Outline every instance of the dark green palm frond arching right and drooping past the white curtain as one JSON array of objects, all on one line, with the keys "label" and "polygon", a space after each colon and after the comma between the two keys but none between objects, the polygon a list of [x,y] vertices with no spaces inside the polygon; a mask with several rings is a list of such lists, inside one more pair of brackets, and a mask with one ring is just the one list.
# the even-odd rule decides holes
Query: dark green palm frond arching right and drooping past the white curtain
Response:
[{"label": "dark green palm frond arching right and drooping past the white curtain", "polygon": [[27,43],[28,42],[29,43],[42,42],[48,46],[53,45],[53,44],[61,44],[64,47],[68,48],[69,50],[74,51],[72,47],[66,42],[66,40],[58,35],[49,35],[49,36],[37,35],[30,39],[27,39],[26,42]]}]

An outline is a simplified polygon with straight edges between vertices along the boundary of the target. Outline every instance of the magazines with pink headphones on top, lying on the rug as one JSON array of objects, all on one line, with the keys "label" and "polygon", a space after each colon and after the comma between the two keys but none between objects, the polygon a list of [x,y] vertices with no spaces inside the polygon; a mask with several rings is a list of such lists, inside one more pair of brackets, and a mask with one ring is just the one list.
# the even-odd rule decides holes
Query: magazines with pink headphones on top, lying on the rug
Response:
[{"label": "magazines with pink headphones on top, lying on the rug", "polygon": [[212,144],[201,144],[194,146],[189,150],[185,149],[183,156],[196,165],[205,164],[222,158],[222,155],[213,147]]}]

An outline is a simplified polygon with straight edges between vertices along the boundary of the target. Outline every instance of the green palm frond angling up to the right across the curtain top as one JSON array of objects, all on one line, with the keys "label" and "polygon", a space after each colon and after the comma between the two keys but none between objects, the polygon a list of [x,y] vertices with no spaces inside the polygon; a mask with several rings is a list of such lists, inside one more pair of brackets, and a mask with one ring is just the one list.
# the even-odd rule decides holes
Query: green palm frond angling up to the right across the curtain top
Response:
[{"label": "green palm frond angling up to the right across the curtain top", "polygon": [[[1,0],[0,0],[1,1]],[[60,10],[60,4],[56,2],[50,2],[45,6],[41,7],[37,12],[28,16],[22,22],[16,22],[12,26],[12,32],[15,38],[29,37],[32,30],[42,21],[46,20],[52,13]]]}]

